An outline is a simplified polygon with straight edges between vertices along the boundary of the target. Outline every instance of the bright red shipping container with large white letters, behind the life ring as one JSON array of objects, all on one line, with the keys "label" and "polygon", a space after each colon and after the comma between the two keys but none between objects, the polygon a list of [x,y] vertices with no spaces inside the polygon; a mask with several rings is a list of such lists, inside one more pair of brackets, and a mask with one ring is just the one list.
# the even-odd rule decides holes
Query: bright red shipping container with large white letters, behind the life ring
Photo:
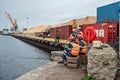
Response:
[{"label": "bright red shipping container with large white letters, behind the life ring", "polygon": [[114,43],[117,39],[117,23],[109,22],[109,23],[96,23],[96,24],[88,24],[83,25],[83,33],[86,27],[94,27],[96,31],[95,40],[100,40],[103,43]]}]

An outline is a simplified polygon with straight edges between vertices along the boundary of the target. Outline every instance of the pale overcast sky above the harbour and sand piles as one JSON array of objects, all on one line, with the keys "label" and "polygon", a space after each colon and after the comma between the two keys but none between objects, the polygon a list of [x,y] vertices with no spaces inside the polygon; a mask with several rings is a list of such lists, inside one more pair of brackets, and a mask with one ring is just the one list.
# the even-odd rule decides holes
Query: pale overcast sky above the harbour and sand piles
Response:
[{"label": "pale overcast sky above the harbour and sand piles", "polygon": [[18,29],[55,25],[76,18],[96,16],[97,7],[119,0],[0,0],[0,30],[10,28],[5,12],[16,19]]}]

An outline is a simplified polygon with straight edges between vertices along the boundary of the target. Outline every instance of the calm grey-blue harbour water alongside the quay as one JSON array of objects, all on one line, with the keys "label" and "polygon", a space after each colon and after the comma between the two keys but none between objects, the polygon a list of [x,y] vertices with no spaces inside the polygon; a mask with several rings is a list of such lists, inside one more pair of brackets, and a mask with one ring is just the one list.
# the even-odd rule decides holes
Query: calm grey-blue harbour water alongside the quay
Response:
[{"label": "calm grey-blue harbour water alongside the quay", "polygon": [[11,36],[0,35],[0,80],[15,80],[49,62],[49,53]]}]

